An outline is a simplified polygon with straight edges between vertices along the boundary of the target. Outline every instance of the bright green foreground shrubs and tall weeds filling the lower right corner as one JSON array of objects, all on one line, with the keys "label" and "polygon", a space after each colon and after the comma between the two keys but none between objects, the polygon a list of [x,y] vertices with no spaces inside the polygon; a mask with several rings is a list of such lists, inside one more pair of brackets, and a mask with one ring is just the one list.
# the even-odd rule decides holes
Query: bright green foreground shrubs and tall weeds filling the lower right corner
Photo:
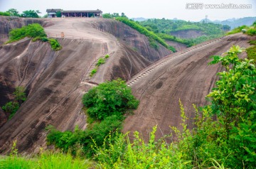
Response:
[{"label": "bright green foreground shrubs and tall weeds filling the lower right corner", "polygon": [[119,133],[114,142],[105,139],[107,148],[94,146],[95,160],[105,168],[255,168],[256,70],[252,60],[238,58],[242,51],[233,46],[223,57],[213,56],[210,64],[221,62],[226,71],[208,94],[211,104],[200,111],[194,106],[192,130],[180,102],[183,129],[171,127],[176,142],[166,143],[166,136],[155,141],[156,127],[149,143],[138,132],[133,143]]}]

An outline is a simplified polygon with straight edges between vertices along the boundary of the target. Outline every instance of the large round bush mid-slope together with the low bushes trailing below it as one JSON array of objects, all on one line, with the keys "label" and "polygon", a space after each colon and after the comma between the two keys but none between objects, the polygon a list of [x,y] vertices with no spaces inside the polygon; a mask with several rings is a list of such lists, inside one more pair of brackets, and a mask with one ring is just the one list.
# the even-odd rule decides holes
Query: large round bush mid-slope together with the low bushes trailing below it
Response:
[{"label": "large round bush mid-slope together with the low bushes trailing below it", "polygon": [[132,95],[132,91],[123,80],[113,80],[93,87],[82,97],[82,104],[87,107],[87,114],[93,122],[91,129],[82,131],[75,128],[75,131],[61,132],[48,126],[50,133],[47,141],[64,151],[73,150],[75,145],[82,146],[83,153],[91,156],[95,153],[91,148],[97,144],[101,146],[106,136],[113,131],[119,131],[124,119],[123,114],[127,109],[136,109],[139,101]]}]

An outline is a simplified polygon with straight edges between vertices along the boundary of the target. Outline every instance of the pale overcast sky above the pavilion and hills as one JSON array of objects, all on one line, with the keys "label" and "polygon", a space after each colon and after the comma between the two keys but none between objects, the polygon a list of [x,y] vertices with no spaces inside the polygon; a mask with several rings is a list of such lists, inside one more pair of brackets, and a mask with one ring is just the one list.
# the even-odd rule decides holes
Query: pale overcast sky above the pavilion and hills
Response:
[{"label": "pale overcast sky above the pavilion and hills", "polygon": [[[252,9],[186,9],[186,4],[251,4]],[[189,6],[188,6],[189,7]],[[95,10],[103,13],[122,13],[129,18],[178,18],[186,21],[225,20],[256,16],[256,0],[0,0],[0,11],[17,9],[20,13],[26,10],[39,10],[41,16],[46,9]]]}]

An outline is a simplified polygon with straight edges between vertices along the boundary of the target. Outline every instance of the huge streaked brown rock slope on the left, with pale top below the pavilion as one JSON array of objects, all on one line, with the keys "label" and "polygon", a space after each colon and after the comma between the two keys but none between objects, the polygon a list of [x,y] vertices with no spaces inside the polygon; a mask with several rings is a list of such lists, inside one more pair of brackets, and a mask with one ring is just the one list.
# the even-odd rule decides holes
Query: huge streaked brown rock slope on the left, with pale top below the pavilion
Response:
[{"label": "huge streaked brown rock slope on the left, with pale top below the pavilion", "polygon": [[[89,38],[58,38],[63,46],[60,51],[51,50],[48,43],[32,42],[29,38],[0,46],[0,107],[14,99],[12,93],[17,86],[26,87],[28,95],[11,120],[6,121],[6,114],[0,110],[0,153],[8,152],[14,139],[17,139],[20,152],[46,148],[45,128],[48,125],[61,131],[73,130],[75,125],[85,129],[86,116],[81,113],[81,99],[92,85],[82,79],[92,62],[105,53],[110,54],[110,58],[99,68],[92,82],[117,77],[128,80],[151,63],[126,45],[117,45],[111,34],[92,28],[91,23],[97,21],[95,18],[47,21],[42,24],[53,23],[46,28],[47,33],[60,33],[66,28],[64,31],[73,32],[74,36]],[[22,25],[17,23],[17,26]]]}]

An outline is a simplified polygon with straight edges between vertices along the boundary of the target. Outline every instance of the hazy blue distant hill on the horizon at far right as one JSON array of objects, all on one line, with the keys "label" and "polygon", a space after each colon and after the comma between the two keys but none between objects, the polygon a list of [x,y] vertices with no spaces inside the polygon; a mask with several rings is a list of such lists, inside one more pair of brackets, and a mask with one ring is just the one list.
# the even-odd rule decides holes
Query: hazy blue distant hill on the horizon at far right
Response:
[{"label": "hazy blue distant hill on the horizon at far right", "polygon": [[207,23],[218,23],[222,25],[228,25],[231,27],[231,29],[236,28],[238,26],[251,26],[254,21],[256,21],[256,17],[245,17],[245,18],[229,18],[225,21],[210,21],[209,19],[202,19],[201,22],[206,22]]}]

